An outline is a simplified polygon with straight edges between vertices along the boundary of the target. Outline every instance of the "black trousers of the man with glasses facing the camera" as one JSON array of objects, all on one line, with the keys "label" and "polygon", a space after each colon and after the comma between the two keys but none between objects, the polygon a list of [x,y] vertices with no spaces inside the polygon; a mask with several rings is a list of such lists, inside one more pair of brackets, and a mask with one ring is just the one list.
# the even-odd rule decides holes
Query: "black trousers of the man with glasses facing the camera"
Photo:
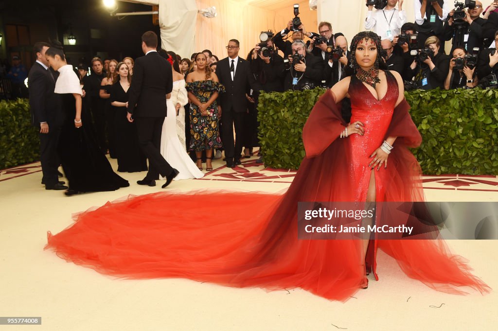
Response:
[{"label": "black trousers of the man with glasses facing the camera", "polygon": [[[232,160],[241,158],[243,136],[244,136],[244,112],[235,112],[234,109],[223,109],[221,121],[222,125],[222,142],[225,149],[225,157],[227,163]],[[234,147],[234,126],[235,126],[235,147]]]}]

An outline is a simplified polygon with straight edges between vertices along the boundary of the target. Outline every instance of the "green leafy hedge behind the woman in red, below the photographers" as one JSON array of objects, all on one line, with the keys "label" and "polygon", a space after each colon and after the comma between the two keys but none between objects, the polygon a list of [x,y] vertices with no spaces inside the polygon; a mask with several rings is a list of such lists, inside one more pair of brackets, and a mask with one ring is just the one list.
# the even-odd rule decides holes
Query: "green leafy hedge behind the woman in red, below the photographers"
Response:
[{"label": "green leafy hedge behind the woman in red, below the photographers", "polygon": [[[297,169],[302,127],[324,89],[261,93],[259,139],[265,165]],[[498,174],[498,91],[405,92],[423,142],[413,150],[424,174]]]}]

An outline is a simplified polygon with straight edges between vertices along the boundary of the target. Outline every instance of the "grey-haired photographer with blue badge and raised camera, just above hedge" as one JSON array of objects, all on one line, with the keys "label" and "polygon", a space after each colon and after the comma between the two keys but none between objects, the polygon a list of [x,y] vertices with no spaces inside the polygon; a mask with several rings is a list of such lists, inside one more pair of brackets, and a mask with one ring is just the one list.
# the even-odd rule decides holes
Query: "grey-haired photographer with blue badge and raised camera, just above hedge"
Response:
[{"label": "grey-haired photographer with blue badge and raised camera, just above hedge", "polygon": [[320,85],[323,74],[323,61],[306,52],[302,40],[295,40],[289,55],[290,66],[286,69],[284,90],[313,89]]}]

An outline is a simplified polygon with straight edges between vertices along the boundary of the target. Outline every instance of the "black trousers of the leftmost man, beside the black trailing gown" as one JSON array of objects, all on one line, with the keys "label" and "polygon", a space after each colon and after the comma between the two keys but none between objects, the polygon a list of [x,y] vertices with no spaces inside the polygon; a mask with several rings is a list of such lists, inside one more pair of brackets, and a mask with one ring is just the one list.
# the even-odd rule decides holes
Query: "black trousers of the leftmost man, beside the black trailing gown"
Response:
[{"label": "black trousers of the leftmost man, beside the black trailing gown", "polygon": [[48,127],[48,133],[38,133],[40,137],[40,162],[43,173],[42,181],[46,187],[59,182],[57,168],[60,164],[57,145],[59,144],[60,127]]}]

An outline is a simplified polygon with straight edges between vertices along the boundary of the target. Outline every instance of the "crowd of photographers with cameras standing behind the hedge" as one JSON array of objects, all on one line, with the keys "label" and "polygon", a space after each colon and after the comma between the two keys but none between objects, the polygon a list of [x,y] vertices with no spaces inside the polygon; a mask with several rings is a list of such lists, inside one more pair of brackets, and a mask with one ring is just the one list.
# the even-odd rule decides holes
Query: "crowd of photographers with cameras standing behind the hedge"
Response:
[{"label": "crowd of photographers with cameras standing behind the hedge", "polygon": [[[457,0],[454,8],[448,0],[414,0],[413,23],[402,4],[366,0],[365,29],[381,37],[387,68],[401,74],[406,90],[498,86],[498,0],[487,8],[478,0]],[[294,19],[276,33],[261,32],[261,42],[249,53],[260,90],[330,88],[344,77],[350,62],[345,36],[334,33],[329,22],[321,22],[318,33],[309,32],[298,15],[294,5]]]}]

